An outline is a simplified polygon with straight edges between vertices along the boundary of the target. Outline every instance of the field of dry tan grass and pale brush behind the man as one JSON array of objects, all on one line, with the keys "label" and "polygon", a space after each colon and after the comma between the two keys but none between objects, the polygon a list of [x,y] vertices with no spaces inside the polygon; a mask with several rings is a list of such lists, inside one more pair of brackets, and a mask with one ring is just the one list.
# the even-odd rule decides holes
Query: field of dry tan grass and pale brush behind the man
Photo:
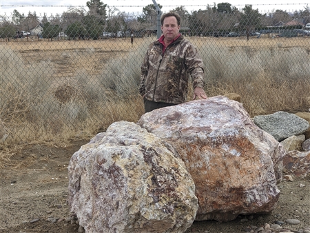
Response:
[{"label": "field of dry tan grass and pale brush behind the man", "polygon": [[[90,139],[114,121],[138,121],[140,65],[155,38],[10,41],[0,45],[0,167],[29,143]],[[240,94],[249,114],[309,108],[307,38],[188,37],[203,57],[209,97]],[[189,98],[192,98],[192,91]],[[5,155],[6,154],[6,155]]]}]

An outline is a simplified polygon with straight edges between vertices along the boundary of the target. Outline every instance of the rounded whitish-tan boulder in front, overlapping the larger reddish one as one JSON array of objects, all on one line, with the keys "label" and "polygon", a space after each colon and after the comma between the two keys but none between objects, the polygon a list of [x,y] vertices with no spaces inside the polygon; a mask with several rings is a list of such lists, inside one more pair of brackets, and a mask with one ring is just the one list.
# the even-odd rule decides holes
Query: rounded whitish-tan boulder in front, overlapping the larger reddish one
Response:
[{"label": "rounded whitish-tan boulder in front, overlapping the larger reddish one", "polygon": [[185,232],[198,199],[170,145],[136,123],[113,123],[74,153],[68,202],[85,232]]}]

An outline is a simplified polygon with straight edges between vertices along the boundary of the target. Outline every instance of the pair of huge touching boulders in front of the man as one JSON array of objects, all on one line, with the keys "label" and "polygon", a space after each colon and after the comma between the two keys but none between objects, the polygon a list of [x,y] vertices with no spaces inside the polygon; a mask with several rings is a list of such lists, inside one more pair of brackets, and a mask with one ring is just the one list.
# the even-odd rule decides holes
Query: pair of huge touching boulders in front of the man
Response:
[{"label": "pair of huge touching boulders in front of the man", "polygon": [[241,103],[187,102],[113,123],[83,145],[68,200],[86,232],[185,232],[195,219],[271,212],[284,156]]}]

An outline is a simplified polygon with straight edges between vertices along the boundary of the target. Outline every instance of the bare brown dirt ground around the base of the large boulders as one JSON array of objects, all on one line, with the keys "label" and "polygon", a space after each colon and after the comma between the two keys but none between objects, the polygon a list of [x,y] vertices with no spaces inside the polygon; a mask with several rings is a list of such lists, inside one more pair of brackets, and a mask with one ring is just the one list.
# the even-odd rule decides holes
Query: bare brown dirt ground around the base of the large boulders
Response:
[{"label": "bare brown dirt ground around the base of the large boulders", "polygon": [[[11,160],[23,166],[0,170],[0,232],[78,232],[68,210],[68,163],[74,152],[88,141],[76,141],[63,148],[32,145]],[[239,216],[234,221],[194,222],[187,232],[249,232],[275,221],[298,219],[298,225],[282,225],[291,230],[310,226],[310,176],[282,181],[276,210],[270,214]]]}]

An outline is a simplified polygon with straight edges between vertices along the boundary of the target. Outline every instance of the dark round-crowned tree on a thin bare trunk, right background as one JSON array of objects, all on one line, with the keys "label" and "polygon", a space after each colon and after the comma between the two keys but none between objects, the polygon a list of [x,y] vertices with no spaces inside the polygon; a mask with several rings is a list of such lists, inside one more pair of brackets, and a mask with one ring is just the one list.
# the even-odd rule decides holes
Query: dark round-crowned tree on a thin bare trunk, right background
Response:
[{"label": "dark round-crowned tree on a thin bare trunk, right background", "polygon": [[249,40],[250,30],[260,26],[261,16],[262,14],[258,12],[258,9],[254,10],[252,5],[245,5],[245,8],[242,8],[239,26],[241,30],[245,30],[247,40]]}]

